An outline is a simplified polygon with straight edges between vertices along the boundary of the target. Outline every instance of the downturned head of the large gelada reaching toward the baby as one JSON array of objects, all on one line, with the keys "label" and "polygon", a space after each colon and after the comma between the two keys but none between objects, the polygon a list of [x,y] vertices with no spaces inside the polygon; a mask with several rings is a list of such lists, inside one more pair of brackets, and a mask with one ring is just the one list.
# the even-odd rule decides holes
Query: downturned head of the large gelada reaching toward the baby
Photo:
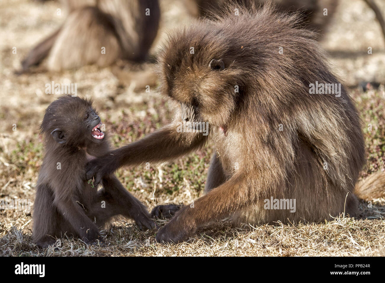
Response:
[{"label": "downturned head of the large gelada reaching toward the baby", "polygon": [[160,60],[160,91],[181,105],[184,121],[221,127],[236,108],[239,70],[221,41],[199,28],[169,38]]}]

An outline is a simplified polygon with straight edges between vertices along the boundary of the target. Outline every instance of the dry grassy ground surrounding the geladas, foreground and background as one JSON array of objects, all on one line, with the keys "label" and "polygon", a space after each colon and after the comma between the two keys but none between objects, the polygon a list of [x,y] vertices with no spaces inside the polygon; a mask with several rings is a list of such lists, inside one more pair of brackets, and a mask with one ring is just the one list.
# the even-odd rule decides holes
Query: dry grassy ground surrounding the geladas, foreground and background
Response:
[{"label": "dry grassy ground surrounding the geladas, foreground and background", "polygon": [[[161,31],[152,53],[170,28],[192,20],[182,1],[161,0]],[[385,2],[376,1],[385,14]],[[37,42],[62,23],[59,2],[0,0],[0,199],[34,200],[44,155],[39,125],[44,110],[57,95],[45,94],[45,84],[77,83],[77,94],[92,97],[115,146],[123,146],[166,124],[166,99],[156,93],[134,92],[122,85],[109,67],[85,66],[60,73],[15,75],[20,62]],[[375,14],[363,0],[341,0],[321,45],[330,54],[334,72],[351,88],[361,113],[368,152],[362,177],[385,170],[385,40]],[[16,47],[16,54],[12,53]],[[373,54],[368,54],[372,47]],[[379,82],[363,92],[360,82]],[[13,131],[16,124],[16,131]],[[372,131],[368,131],[369,124]],[[208,147],[175,162],[124,168],[117,176],[149,209],[157,204],[189,203],[203,194],[211,152]],[[151,164],[150,164],[151,165]],[[385,189],[385,188],[384,188]],[[363,219],[336,218],[325,223],[257,226],[234,229],[228,219],[198,230],[181,244],[157,244],[156,230],[139,231],[118,218],[104,231],[106,246],[87,246],[63,239],[61,246],[39,250],[31,242],[31,214],[0,210],[0,256],[375,256],[385,255],[385,199],[373,206],[361,202]],[[164,221],[159,221],[162,225]]]}]

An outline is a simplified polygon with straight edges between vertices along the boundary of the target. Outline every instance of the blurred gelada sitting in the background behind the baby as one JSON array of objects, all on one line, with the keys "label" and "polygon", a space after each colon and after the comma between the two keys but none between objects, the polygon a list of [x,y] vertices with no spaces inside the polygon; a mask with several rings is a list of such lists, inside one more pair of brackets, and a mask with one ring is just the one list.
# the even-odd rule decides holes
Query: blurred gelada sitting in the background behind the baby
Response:
[{"label": "blurred gelada sitting in the background behind the baby", "polygon": [[67,0],[62,26],[34,47],[23,71],[47,58],[48,70],[88,64],[107,66],[117,59],[141,62],[154,41],[160,18],[158,0]]}]

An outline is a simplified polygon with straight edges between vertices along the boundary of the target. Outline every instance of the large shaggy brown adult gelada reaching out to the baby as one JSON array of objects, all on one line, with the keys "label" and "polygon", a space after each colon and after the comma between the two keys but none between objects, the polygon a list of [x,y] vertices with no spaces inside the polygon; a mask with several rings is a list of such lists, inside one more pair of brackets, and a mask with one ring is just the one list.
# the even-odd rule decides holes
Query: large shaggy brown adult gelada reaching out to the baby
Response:
[{"label": "large shaggy brown adult gelada reaching out to the baby", "polygon": [[[97,183],[119,167],[172,160],[213,141],[206,194],[181,208],[157,241],[187,239],[227,216],[239,226],[358,212],[353,192],[365,163],[360,119],[314,33],[269,5],[233,11],[171,33],[159,64],[160,92],[174,120],[87,165],[87,178]],[[312,91],[318,83],[333,85]],[[182,120],[208,122],[208,136],[180,131]],[[382,180],[366,195],[381,193]],[[365,188],[364,182],[356,189]],[[295,199],[295,212],[265,209],[271,198]]]}]

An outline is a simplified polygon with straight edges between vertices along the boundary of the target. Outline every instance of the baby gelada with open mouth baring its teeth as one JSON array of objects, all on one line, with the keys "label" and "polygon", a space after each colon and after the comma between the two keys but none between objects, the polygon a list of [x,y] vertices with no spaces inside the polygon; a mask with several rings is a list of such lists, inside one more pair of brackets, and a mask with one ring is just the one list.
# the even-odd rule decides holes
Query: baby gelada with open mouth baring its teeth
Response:
[{"label": "baby gelada with open mouth baring its teeth", "polygon": [[139,228],[155,226],[115,176],[105,176],[99,190],[83,180],[87,161],[109,150],[101,125],[91,102],[79,97],[59,97],[47,108],[41,125],[46,153],[33,210],[32,238],[39,247],[65,235],[86,243],[102,240],[99,229],[118,214]]}]

